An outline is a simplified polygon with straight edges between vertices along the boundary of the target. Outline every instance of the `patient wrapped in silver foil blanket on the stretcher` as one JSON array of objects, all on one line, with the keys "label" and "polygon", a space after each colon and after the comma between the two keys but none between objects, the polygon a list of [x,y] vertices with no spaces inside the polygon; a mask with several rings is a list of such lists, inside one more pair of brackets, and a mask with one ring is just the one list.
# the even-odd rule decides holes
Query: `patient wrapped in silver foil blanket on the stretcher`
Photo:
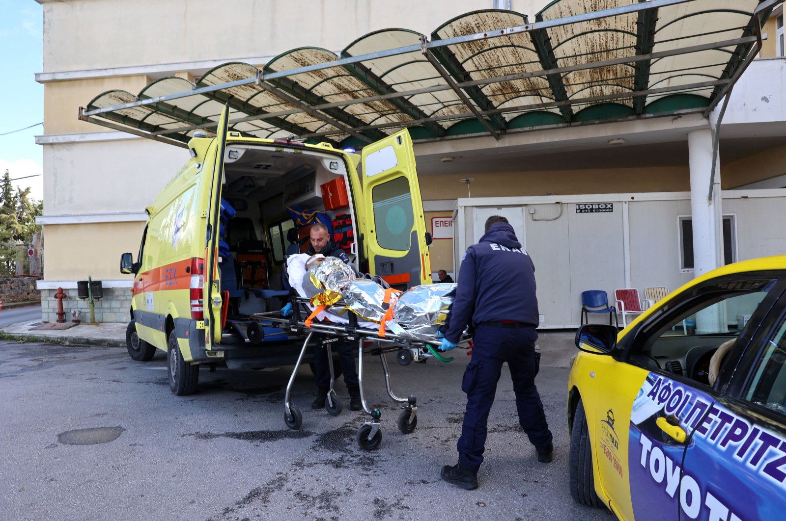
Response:
[{"label": "patient wrapped in silver foil blanket on the stretcher", "polygon": [[455,284],[416,286],[406,292],[391,290],[384,280],[360,275],[351,264],[334,257],[292,255],[288,279],[298,295],[310,299],[312,311],[324,306],[316,319],[347,323],[347,311],[358,315],[358,325],[432,340],[445,321]]}]

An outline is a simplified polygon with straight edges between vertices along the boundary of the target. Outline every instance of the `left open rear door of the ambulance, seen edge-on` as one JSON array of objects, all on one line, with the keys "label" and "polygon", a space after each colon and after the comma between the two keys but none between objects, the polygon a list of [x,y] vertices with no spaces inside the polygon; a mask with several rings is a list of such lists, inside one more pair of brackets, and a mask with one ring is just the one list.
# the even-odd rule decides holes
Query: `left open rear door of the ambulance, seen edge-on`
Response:
[{"label": "left open rear door of the ambulance, seen edge-on", "polygon": [[221,216],[221,187],[224,177],[224,151],[226,150],[226,132],[230,121],[230,104],[224,106],[216,128],[215,158],[213,159],[213,176],[211,179],[210,199],[208,203],[208,244],[205,247],[204,259],[204,328],[205,348],[221,341],[221,306],[219,293],[219,219]]}]

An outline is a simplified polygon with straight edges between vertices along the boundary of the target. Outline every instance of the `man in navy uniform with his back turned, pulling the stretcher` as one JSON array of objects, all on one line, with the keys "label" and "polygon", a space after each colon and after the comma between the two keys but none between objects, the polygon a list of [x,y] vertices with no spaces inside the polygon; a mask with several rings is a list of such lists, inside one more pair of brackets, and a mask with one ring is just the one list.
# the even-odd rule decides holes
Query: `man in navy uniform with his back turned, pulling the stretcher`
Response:
[{"label": "man in navy uniform with his back turned, pulling the stretcher", "polygon": [[441,475],[448,483],[472,490],[478,486],[489,410],[503,363],[510,369],[519,423],[535,446],[538,461],[551,461],[553,445],[534,383],[538,338],[534,264],[505,217],[489,217],[486,234],[461,260],[460,275],[441,349],[455,348],[465,326],[471,324],[476,331],[472,360],[461,382],[467,412],[457,444],[458,464],[445,465]]}]

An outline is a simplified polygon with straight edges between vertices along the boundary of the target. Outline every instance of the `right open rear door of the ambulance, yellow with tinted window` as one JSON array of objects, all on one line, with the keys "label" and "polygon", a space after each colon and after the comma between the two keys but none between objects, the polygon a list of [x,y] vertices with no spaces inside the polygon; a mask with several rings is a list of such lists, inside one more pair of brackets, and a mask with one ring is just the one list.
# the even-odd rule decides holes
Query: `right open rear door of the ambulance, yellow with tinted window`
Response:
[{"label": "right open rear door of the ambulance, yellow with tinted window", "polygon": [[410,133],[403,129],[362,150],[362,248],[369,271],[406,290],[432,282],[431,260]]}]

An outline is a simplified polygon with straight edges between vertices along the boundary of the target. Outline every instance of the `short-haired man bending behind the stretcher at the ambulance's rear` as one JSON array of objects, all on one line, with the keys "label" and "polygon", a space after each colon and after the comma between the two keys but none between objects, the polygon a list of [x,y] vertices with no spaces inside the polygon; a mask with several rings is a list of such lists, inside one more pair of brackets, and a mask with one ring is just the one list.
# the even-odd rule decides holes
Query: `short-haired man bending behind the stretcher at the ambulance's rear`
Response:
[{"label": "short-haired man bending behind the stretcher at the ambulance's rear", "polygon": [[[347,253],[344,253],[335,242],[330,240],[330,234],[325,224],[317,223],[311,226],[311,247],[308,249],[310,255],[321,253],[325,257],[338,257],[344,262],[349,262]],[[356,344],[351,341],[333,342],[331,349],[339,355],[341,372],[343,373],[344,384],[347,384],[349,392],[349,408],[351,410],[361,410],[363,408],[360,400],[360,386],[358,385],[358,369],[354,364],[354,349]],[[325,400],[328,398],[330,390],[330,367],[328,365],[328,350],[321,343],[314,345],[314,368],[317,378],[317,397],[311,403],[312,409],[322,409],[325,407]]]}]

